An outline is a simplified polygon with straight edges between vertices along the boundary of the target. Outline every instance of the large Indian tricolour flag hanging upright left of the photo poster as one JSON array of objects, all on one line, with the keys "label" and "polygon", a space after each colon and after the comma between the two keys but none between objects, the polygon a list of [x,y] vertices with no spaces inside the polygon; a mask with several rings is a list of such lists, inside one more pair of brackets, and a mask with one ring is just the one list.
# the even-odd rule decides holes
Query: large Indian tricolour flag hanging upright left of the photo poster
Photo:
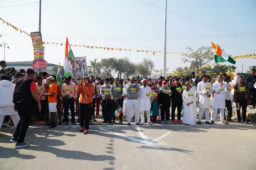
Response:
[{"label": "large Indian tricolour flag hanging upright left of the photo poster", "polygon": [[65,77],[69,77],[69,74],[72,73],[71,67],[70,67],[70,58],[73,58],[74,54],[71,50],[71,47],[69,45],[68,37],[66,39],[66,46],[65,46],[65,59],[64,59],[64,73]]}]

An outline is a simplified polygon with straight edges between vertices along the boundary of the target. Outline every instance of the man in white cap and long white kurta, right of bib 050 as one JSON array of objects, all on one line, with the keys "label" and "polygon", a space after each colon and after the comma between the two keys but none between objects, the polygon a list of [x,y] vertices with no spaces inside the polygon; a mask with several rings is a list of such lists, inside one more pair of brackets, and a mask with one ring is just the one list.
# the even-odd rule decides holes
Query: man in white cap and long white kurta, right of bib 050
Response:
[{"label": "man in white cap and long white kurta, right of bib 050", "polygon": [[141,113],[141,124],[143,125],[145,122],[144,118],[144,111],[147,113],[147,123],[149,125],[152,125],[150,121],[150,108],[151,108],[151,102],[150,97],[152,95],[151,88],[147,85],[147,80],[143,79],[141,81],[142,86],[140,87],[139,91],[139,111]]}]

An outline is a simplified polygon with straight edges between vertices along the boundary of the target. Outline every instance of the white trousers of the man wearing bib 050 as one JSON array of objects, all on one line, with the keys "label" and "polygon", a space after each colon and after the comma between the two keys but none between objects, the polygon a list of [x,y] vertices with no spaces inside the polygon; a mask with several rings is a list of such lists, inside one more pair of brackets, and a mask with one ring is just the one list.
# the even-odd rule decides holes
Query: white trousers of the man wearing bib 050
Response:
[{"label": "white trousers of the man wearing bib 050", "polygon": [[131,118],[133,117],[132,109],[134,110],[135,114],[135,123],[139,123],[140,113],[138,99],[126,100],[125,111],[127,114],[127,123],[131,123]]}]

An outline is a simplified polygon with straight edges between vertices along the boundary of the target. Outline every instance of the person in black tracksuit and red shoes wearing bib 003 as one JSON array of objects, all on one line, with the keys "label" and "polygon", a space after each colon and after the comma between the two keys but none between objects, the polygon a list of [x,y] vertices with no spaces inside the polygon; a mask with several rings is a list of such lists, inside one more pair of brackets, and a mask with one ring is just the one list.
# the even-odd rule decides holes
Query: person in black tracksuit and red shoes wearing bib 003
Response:
[{"label": "person in black tracksuit and red shoes wearing bib 003", "polygon": [[175,124],[175,109],[177,107],[178,123],[181,122],[181,108],[182,108],[182,85],[179,84],[179,78],[176,78],[174,85],[171,86],[172,91],[172,124]]}]

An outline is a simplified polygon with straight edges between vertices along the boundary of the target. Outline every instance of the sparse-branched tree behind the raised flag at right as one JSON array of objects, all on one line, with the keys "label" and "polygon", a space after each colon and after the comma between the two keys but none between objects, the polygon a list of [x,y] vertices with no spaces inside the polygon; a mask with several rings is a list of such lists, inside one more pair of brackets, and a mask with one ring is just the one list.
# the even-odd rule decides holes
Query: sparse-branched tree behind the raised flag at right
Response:
[{"label": "sparse-branched tree behind the raised flag at right", "polygon": [[188,47],[187,49],[189,49],[188,52],[192,52],[192,53],[183,54],[184,57],[182,57],[182,61],[184,63],[189,62],[192,65],[192,68],[202,67],[214,59],[214,57],[211,57],[211,55],[213,55],[213,52],[212,52],[212,47],[210,46],[199,47],[196,51],[193,50],[191,47]]}]

